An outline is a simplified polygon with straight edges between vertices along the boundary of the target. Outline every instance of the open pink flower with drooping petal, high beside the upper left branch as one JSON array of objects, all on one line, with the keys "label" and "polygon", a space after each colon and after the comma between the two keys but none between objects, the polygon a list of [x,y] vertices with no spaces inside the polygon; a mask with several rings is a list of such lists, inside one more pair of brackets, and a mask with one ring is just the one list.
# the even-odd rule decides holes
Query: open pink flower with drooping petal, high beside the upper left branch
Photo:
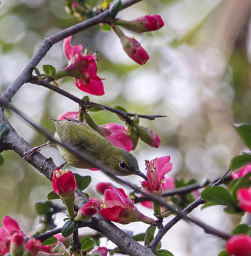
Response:
[{"label": "open pink flower with drooping petal, high beside the upper left branch", "polygon": [[67,71],[75,78],[75,85],[84,92],[92,95],[104,95],[104,85],[96,75],[96,55],[82,54],[82,45],[71,46],[72,36],[64,40],[64,52],[69,60]]}]

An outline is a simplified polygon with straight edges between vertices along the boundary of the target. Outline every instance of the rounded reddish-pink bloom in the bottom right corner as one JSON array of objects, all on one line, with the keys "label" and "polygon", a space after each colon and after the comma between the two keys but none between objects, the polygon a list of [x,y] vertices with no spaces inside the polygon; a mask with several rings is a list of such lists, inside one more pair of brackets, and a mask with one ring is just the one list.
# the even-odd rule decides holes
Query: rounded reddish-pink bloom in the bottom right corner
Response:
[{"label": "rounded reddish-pink bloom in the bottom right corner", "polygon": [[251,237],[238,234],[228,239],[225,248],[229,255],[250,256],[251,255]]}]

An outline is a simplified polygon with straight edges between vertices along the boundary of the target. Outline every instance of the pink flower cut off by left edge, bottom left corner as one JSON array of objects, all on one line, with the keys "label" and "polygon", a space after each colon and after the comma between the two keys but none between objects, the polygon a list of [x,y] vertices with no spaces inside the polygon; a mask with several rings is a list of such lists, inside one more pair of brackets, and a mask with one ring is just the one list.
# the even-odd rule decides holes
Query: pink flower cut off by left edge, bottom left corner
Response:
[{"label": "pink flower cut off by left edge, bottom left corner", "polygon": [[5,215],[3,219],[3,228],[0,228],[0,253],[5,255],[9,252],[11,238],[15,233],[22,233],[16,220],[9,215]]}]

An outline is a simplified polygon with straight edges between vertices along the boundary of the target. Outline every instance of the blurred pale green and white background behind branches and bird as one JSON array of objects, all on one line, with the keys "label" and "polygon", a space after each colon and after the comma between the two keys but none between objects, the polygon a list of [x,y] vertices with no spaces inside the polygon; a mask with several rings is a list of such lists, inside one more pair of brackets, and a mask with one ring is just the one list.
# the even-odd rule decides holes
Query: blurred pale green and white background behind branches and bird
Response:
[{"label": "blurred pale green and white background behind branches and bird", "polygon": [[[160,14],[165,24],[160,31],[140,35],[123,29],[127,36],[135,36],[149,53],[150,60],[144,66],[125,55],[113,31],[102,31],[95,26],[73,36],[72,45],[82,43],[89,53],[98,52],[98,75],[105,78],[106,94],[89,95],[91,101],[111,107],[121,105],[128,112],[167,116],[155,121],[140,120],[140,124],[150,127],[161,139],[158,149],[139,142],[133,151],[141,170],[145,169],[145,159],[169,155],[174,164],[169,176],[201,181],[204,177],[221,176],[228,170],[230,159],[247,150],[233,124],[250,123],[251,117],[250,13],[249,0],[147,0],[135,4],[118,14],[118,18],[130,20],[145,14]],[[0,94],[23,70],[43,38],[76,23],[79,20],[67,14],[63,0],[2,0]],[[62,42],[43,58],[38,65],[41,71],[44,64],[57,69],[67,66]],[[58,83],[77,97],[86,95],[72,79]],[[51,132],[55,127],[48,117],[78,110],[75,102],[32,84],[21,87],[13,97],[13,105]],[[6,111],[6,116],[32,146],[45,142],[43,135],[16,115]],[[109,112],[96,112],[93,117],[98,124],[123,124]],[[56,164],[62,163],[57,149],[47,148],[41,153],[52,156]],[[0,166],[0,220],[6,214],[11,215],[28,233],[39,226],[34,203],[46,199],[52,191],[51,183],[13,151],[3,152],[2,156],[5,164]],[[87,193],[102,198],[95,185],[108,181],[106,176],[100,171],[70,169],[91,175]],[[140,178],[126,179],[140,186]],[[115,182],[114,185],[120,186]],[[128,188],[125,191],[130,193]],[[138,208],[152,216],[152,210]],[[240,217],[229,217],[220,206],[198,208],[191,216],[226,232],[240,222]],[[57,223],[62,225],[62,220],[58,218]],[[135,234],[147,228],[141,223],[120,226]],[[175,256],[218,255],[224,245],[224,241],[184,221],[175,225],[162,242],[162,248]]]}]

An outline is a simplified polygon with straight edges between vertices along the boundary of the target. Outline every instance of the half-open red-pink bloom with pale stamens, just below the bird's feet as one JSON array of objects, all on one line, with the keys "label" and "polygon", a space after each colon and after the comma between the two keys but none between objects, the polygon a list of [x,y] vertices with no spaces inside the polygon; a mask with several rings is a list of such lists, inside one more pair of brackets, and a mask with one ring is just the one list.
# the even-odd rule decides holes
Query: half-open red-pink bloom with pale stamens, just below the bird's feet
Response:
[{"label": "half-open red-pink bloom with pale stamens, just below the bird's feet", "polygon": [[77,181],[72,171],[55,169],[52,176],[52,187],[60,196],[61,193],[69,194],[77,188]]}]

